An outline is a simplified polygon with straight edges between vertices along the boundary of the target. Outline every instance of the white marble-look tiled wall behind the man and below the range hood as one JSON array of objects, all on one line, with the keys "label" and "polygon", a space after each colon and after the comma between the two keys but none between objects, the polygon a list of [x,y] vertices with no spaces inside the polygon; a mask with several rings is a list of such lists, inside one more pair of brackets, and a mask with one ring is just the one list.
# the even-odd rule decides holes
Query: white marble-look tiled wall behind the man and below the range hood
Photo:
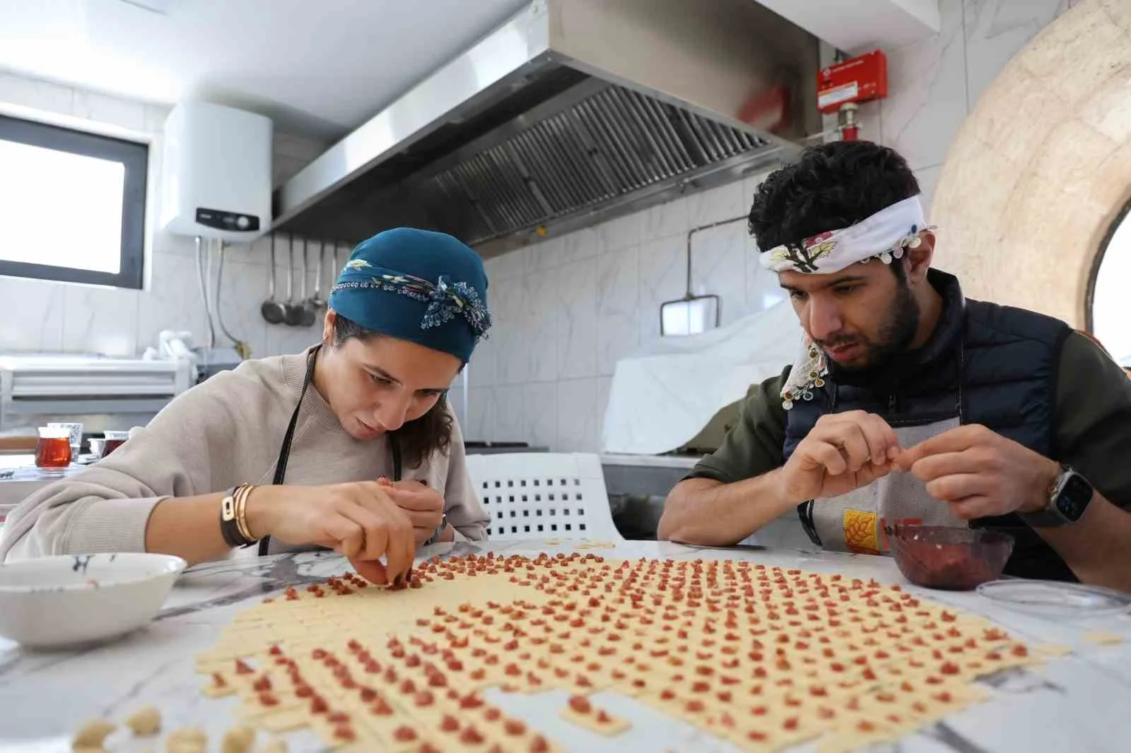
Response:
[{"label": "white marble-look tiled wall behind the man and below the range hood", "polygon": [[[947,149],[977,97],[1068,6],[1068,0],[939,0],[942,31],[936,37],[886,50],[890,96],[862,109],[862,138],[907,157],[929,218]],[[597,451],[616,361],[657,337],[659,304],[684,293],[688,231],[743,215],[759,180],[749,176],[491,259],[498,331],[485,358],[498,366],[494,379],[490,366],[472,372],[477,388],[472,415],[483,418],[473,421],[468,436]],[[692,256],[692,292],[722,296],[724,323],[784,297],[776,276],[758,266],[757,249],[741,222],[697,233]],[[554,317],[555,348],[546,341]],[[558,360],[553,367],[546,361],[551,354]],[[476,395],[494,400],[492,389],[517,383],[524,386],[521,422],[491,417],[495,409],[509,415],[509,406],[474,404]],[[519,433],[509,433],[516,424]]]}]

